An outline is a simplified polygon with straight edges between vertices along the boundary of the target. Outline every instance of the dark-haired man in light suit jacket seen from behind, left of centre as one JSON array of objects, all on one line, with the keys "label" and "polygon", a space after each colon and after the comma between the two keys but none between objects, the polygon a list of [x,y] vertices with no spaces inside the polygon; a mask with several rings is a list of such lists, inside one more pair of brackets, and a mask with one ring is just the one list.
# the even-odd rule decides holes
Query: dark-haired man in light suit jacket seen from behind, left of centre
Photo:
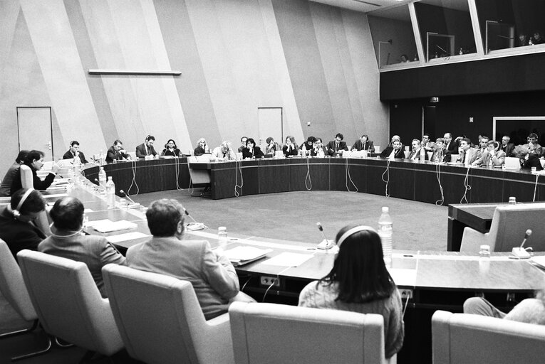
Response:
[{"label": "dark-haired man in light suit jacket seen from behind, left of centre", "polygon": [[146,211],[153,237],[127,250],[129,267],[191,282],[207,320],[226,313],[232,301],[254,301],[239,291],[237,272],[222,250],[183,239],[184,216],[177,200],[153,201]]}]

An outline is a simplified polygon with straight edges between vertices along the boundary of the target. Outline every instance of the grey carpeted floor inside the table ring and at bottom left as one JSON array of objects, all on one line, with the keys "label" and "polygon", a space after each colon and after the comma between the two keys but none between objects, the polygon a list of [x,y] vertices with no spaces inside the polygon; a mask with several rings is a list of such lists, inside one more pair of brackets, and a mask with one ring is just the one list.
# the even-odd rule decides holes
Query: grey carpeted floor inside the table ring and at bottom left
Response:
[{"label": "grey carpeted floor inside the table ring and at bottom left", "polygon": [[[243,196],[225,200],[191,197],[190,191],[162,191],[133,196],[149,205],[158,198],[175,198],[191,215],[217,230],[226,226],[232,234],[253,235],[281,240],[320,242],[316,228],[319,221],[326,236],[333,239],[345,225],[365,224],[376,227],[382,206],[390,208],[394,228],[394,249],[446,250],[447,207],[365,193],[303,191],[271,195]],[[26,323],[0,296],[0,333],[26,327]],[[31,343],[34,342],[34,343]],[[18,336],[0,341],[0,363],[11,355],[43,345],[43,336]],[[83,356],[80,348],[55,349],[24,363],[75,363]],[[98,358],[93,363],[105,363]],[[130,362],[130,360],[126,360]],[[120,360],[125,363],[125,360]]]}]

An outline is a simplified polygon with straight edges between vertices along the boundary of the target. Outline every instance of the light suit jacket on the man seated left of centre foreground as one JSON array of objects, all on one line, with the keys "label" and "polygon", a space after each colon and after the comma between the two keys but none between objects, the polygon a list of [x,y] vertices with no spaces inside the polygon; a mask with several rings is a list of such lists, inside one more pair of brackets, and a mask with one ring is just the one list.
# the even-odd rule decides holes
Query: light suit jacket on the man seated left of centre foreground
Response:
[{"label": "light suit jacket on the man seated left of centre foreground", "polygon": [[227,312],[229,299],[239,292],[233,265],[206,240],[152,237],[127,250],[127,263],[135,269],[191,282],[207,320]]}]

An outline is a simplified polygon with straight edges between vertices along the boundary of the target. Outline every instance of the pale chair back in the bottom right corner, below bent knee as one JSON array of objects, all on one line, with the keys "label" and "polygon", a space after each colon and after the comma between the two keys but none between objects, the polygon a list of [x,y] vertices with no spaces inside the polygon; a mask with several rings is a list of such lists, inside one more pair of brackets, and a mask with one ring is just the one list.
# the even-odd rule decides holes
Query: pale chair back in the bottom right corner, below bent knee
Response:
[{"label": "pale chair back in the bottom right corner, below bent knee", "polygon": [[543,363],[545,326],[435,311],[434,364]]}]

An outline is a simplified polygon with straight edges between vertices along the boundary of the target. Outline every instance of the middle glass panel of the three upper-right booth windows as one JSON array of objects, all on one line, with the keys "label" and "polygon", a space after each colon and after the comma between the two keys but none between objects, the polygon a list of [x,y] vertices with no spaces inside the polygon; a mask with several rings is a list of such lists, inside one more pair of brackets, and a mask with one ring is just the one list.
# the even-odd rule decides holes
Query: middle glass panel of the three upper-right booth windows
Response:
[{"label": "middle glass panel of the three upper-right booth windows", "polygon": [[477,52],[467,0],[422,0],[415,11],[427,61]]}]

